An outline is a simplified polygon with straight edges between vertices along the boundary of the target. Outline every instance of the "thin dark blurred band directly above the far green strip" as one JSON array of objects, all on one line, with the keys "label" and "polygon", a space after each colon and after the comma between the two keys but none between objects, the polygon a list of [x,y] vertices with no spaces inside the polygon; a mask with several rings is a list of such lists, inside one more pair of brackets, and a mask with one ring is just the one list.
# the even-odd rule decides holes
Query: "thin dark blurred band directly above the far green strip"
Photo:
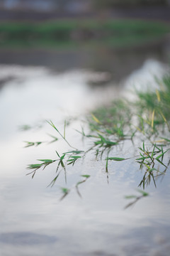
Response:
[{"label": "thin dark blurred band directly above the far green strip", "polygon": [[51,21],[62,18],[140,18],[170,22],[170,6],[124,7],[107,11],[35,11],[0,9],[0,21]]}]

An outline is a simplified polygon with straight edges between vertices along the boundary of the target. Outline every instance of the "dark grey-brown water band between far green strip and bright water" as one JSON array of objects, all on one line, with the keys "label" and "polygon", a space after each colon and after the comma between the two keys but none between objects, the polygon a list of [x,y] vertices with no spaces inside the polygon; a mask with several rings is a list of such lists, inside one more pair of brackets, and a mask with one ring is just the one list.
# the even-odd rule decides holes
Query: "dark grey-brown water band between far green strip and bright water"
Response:
[{"label": "dark grey-brown water band between far green strip and bright water", "polygon": [[0,50],[1,64],[45,66],[57,72],[88,69],[108,73],[108,81],[126,78],[147,59],[169,63],[169,38],[120,50],[105,46],[77,50]]}]

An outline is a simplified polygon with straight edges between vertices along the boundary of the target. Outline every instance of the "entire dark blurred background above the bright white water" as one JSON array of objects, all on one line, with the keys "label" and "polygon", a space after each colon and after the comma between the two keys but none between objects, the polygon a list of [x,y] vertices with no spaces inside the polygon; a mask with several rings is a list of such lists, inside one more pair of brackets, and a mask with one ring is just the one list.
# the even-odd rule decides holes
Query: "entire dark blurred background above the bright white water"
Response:
[{"label": "entire dark blurred background above the bright white water", "polygon": [[169,22],[169,0],[1,0],[0,63],[119,81],[147,59],[169,63]]}]

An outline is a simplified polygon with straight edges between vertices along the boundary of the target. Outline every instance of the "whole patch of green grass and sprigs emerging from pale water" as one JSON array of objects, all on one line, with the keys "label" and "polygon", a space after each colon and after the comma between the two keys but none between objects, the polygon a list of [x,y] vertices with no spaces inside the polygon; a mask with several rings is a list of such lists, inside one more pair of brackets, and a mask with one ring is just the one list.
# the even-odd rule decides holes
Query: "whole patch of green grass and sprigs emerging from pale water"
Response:
[{"label": "whole patch of green grass and sprigs emerging from pale water", "polygon": [[[28,169],[32,170],[30,174],[34,176],[38,169],[45,169],[49,164],[57,162],[56,176],[50,183],[50,186],[54,186],[62,171],[64,171],[65,183],[67,183],[67,166],[74,166],[84,159],[84,156],[89,152],[94,154],[94,161],[99,156],[101,161],[105,161],[107,176],[109,165],[113,161],[122,162],[133,159],[136,164],[140,165],[138,170],[144,172],[138,185],[142,186],[143,191],[138,190],[142,193],[140,196],[130,196],[135,200],[129,203],[126,208],[134,205],[140,198],[148,196],[148,193],[145,192],[146,186],[153,182],[154,186],[157,187],[157,179],[166,174],[170,164],[169,156],[167,156],[170,149],[170,75],[166,75],[164,79],[157,80],[157,82],[159,83],[159,90],[136,92],[137,100],[134,102],[116,100],[89,114],[87,117],[89,132],[86,134],[83,128],[79,132],[86,140],[90,140],[91,147],[88,150],[79,150],[69,144],[65,137],[66,122],[64,122],[62,135],[55,124],[49,121],[48,124],[55,129],[71,150],[64,152],[62,156],[56,151],[57,159],[40,159],[40,163],[30,164],[28,166]],[[130,156],[130,152],[128,152],[128,157],[124,156],[123,143],[127,140],[134,145],[137,155]],[[27,143],[27,146],[40,144],[40,142]],[[120,146],[122,153],[119,156],[116,149]],[[90,175],[82,174],[81,177],[84,179],[74,184],[79,196],[81,196],[79,185],[84,183]],[[70,191],[71,188],[62,188],[62,199]]]}]

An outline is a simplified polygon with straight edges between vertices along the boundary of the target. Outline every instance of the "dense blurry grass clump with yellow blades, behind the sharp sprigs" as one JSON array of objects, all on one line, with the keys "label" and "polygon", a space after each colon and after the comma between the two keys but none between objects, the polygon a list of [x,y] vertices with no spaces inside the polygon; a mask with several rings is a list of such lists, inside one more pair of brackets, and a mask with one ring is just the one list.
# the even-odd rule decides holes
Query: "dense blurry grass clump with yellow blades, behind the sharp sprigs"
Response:
[{"label": "dense blurry grass clump with yellow blades, behind the sharp sprigs", "polygon": [[[109,105],[99,107],[89,116],[92,132],[100,132],[103,137],[115,135],[117,139],[132,138],[137,132],[140,137],[154,142],[154,137],[170,132],[170,75],[161,80],[155,78],[157,90],[135,92],[137,100],[130,102],[118,99]],[[135,123],[134,123],[135,120]],[[159,134],[159,136],[158,136]],[[152,138],[152,140],[151,140]],[[164,139],[164,138],[162,138]],[[116,141],[118,142],[118,141]],[[164,143],[170,142],[164,139]]]}]

